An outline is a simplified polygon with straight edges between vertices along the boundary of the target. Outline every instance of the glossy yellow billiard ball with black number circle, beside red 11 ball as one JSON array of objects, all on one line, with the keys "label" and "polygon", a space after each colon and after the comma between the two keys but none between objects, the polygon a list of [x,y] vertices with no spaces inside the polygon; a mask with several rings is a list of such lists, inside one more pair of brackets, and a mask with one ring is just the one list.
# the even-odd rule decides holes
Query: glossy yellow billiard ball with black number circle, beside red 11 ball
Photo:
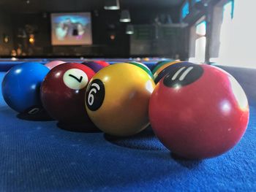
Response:
[{"label": "glossy yellow billiard ball with black number circle, beside red 11 ball", "polygon": [[107,134],[125,137],[148,126],[152,78],[138,66],[113,64],[97,72],[86,90],[86,110]]}]

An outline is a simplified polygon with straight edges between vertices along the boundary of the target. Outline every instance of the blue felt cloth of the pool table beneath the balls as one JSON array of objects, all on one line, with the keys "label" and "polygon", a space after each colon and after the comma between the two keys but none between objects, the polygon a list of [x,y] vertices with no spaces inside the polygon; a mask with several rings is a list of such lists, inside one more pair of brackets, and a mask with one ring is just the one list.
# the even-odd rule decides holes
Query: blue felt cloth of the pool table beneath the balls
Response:
[{"label": "blue felt cloth of the pool table beneath the balls", "polygon": [[173,158],[150,129],[116,139],[65,131],[56,121],[21,120],[0,96],[0,191],[255,191],[256,103],[252,87],[246,91],[244,138],[203,161]]}]

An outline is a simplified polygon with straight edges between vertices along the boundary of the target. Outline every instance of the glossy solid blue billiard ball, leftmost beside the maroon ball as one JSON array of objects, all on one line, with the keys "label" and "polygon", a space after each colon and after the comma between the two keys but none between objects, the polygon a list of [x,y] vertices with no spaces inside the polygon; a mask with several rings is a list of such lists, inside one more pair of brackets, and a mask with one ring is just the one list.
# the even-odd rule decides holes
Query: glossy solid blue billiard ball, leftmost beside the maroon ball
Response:
[{"label": "glossy solid blue billiard ball, leftmost beside the maroon ball", "polygon": [[42,110],[39,90],[49,69],[39,63],[13,66],[1,83],[4,101],[16,112],[35,115]]}]

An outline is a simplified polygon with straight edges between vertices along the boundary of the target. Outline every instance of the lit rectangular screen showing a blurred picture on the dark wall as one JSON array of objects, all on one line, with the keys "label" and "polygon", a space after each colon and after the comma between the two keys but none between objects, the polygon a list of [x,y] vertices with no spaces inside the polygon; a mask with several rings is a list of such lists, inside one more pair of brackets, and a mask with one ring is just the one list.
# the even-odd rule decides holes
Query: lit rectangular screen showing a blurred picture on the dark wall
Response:
[{"label": "lit rectangular screen showing a blurred picture on the dark wall", "polygon": [[52,45],[91,45],[91,13],[51,14]]}]

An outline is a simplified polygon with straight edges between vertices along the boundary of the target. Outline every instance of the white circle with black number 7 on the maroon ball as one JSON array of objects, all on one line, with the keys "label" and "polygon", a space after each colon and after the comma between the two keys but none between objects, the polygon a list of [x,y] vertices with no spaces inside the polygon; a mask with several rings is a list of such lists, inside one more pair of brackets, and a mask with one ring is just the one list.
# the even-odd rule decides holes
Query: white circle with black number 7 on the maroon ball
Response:
[{"label": "white circle with black number 7 on the maroon ball", "polygon": [[87,74],[80,69],[69,69],[64,73],[63,81],[67,87],[78,90],[86,87],[88,77]]}]

